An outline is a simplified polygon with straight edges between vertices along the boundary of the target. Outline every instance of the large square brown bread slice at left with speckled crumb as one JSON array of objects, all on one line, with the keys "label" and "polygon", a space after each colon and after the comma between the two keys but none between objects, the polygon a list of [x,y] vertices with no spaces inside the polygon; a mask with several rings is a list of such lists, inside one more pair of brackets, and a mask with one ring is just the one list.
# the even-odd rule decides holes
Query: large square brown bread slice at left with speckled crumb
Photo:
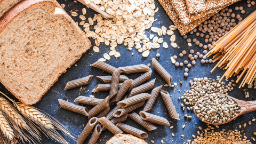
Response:
[{"label": "large square brown bread slice at left with speckled crumb", "polygon": [[32,105],[91,47],[51,0],[24,0],[0,19],[0,82]]}]

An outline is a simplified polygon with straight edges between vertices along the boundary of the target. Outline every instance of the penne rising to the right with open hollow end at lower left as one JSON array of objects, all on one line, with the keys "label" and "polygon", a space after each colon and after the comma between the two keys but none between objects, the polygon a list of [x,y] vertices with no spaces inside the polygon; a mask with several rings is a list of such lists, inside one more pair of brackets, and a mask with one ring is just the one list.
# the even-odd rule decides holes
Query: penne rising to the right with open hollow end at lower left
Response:
[{"label": "penne rising to the right with open hollow end at lower left", "polygon": [[125,114],[130,113],[131,111],[138,109],[144,105],[145,101],[138,102],[132,106],[126,107],[126,108],[119,108],[115,111],[113,114],[114,117],[121,117]]}]

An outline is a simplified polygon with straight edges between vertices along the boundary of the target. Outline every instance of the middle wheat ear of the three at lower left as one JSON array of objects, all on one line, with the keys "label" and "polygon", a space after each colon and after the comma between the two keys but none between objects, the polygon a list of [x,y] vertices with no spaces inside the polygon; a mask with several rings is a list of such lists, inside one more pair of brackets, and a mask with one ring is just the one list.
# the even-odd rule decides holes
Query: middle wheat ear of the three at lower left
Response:
[{"label": "middle wheat ear of the three at lower left", "polygon": [[0,106],[1,109],[5,112],[6,115],[10,116],[10,118],[19,125],[19,127],[27,130],[27,125],[23,121],[23,118],[21,115],[11,106],[9,101],[4,99],[3,97],[0,97]]}]

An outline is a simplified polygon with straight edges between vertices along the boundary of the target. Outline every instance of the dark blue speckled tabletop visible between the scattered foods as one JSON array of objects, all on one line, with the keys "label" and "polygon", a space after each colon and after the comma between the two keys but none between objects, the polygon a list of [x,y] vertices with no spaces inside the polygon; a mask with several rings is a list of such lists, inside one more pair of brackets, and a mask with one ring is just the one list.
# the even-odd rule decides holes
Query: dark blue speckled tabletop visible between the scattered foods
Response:
[{"label": "dark blue speckled tabletop visible between the scattered foods", "polygon": [[[65,10],[68,13],[70,10],[73,10],[73,11],[78,10],[78,16],[72,17],[72,18],[78,23],[81,22],[81,19],[79,19],[79,15],[82,14],[82,8],[86,7],[86,6],[83,6],[79,2],[75,3],[74,1],[71,1],[71,0],[68,0],[68,1],[58,0],[58,2],[60,4],[63,3],[66,5]],[[169,19],[168,15],[163,10],[163,7],[159,4],[159,2],[157,0],[155,0],[155,3],[156,3],[156,7],[159,8],[159,11],[155,14],[155,19],[158,19],[158,20],[153,24],[153,27],[165,26],[167,29],[169,29],[169,26],[173,25],[173,22]],[[245,14],[241,14],[241,11],[239,11],[239,10],[235,11],[235,9],[234,9],[235,6],[243,6],[244,10],[245,10]],[[240,14],[243,19],[246,18],[247,15],[252,13],[254,10],[256,10],[256,5],[247,7],[247,3],[245,0],[238,2],[234,5],[231,5],[229,7],[231,9],[233,9],[232,13]],[[85,15],[85,17],[86,17],[85,22],[88,21],[87,19],[89,17],[93,18],[94,14],[97,14],[96,12],[88,9],[87,7],[86,7],[86,10],[87,10],[87,13]],[[236,22],[237,22],[237,20],[236,20]],[[93,30],[93,27],[90,27],[90,28],[91,28],[91,30]],[[146,34],[148,37],[150,34],[154,34],[154,36],[157,36],[157,34],[152,33],[151,30],[146,30]],[[137,50],[135,50],[135,48],[133,48],[133,50],[132,50],[132,52],[134,53],[134,55],[132,55],[132,52],[127,50],[127,47],[125,47],[122,44],[122,45],[118,45],[116,47],[116,51],[121,53],[121,57],[116,59],[113,56],[111,56],[111,59],[109,61],[107,61],[107,63],[109,63],[110,65],[115,66],[115,67],[137,65],[137,64],[141,64],[141,63],[147,65],[148,63],[150,63],[150,68],[152,68],[151,61],[150,61],[151,58],[155,58],[155,55],[157,53],[160,53],[161,57],[158,59],[159,63],[161,63],[161,65],[172,75],[173,83],[174,82],[178,83],[179,89],[171,88],[171,87],[164,87],[163,89],[172,95],[172,100],[173,100],[174,106],[176,107],[178,113],[180,114],[180,120],[177,121],[177,120],[170,118],[170,116],[167,113],[167,110],[165,108],[164,102],[161,98],[161,95],[159,95],[159,97],[157,98],[154,109],[150,112],[152,114],[167,118],[170,121],[170,126],[171,125],[174,126],[173,129],[169,129],[170,126],[165,127],[165,126],[161,126],[161,125],[156,125],[157,126],[156,130],[147,131],[146,129],[141,127],[139,124],[133,122],[130,118],[127,118],[126,122],[124,122],[125,124],[129,124],[131,126],[137,127],[140,130],[146,131],[148,133],[149,137],[147,139],[145,139],[145,141],[148,143],[151,143],[150,140],[154,140],[155,143],[161,143],[161,140],[163,140],[163,138],[165,138],[165,140],[163,140],[164,143],[183,143],[183,142],[186,143],[187,142],[186,140],[188,140],[188,139],[193,140],[193,137],[191,135],[192,134],[197,135],[198,126],[202,126],[203,128],[206,128],[206,124],[199,121],[199,119],[195,116],[195,114],[193,113],[192,110],[188,111],[186,109],[185,111],[182,111],[180,108],[180,104],[183,102],[179,101],[178,97],[181,97],[183,95],[184,90],[190,89],[189,81],[190,81],[191,77],[207,76],[207,77],[212,77],[215,79],[216,76],[222,76],[225,73],[225,71],[220,70],[218,68],[216,70],[214,70],[213,73],[210,73],[210,70],[215,66],[215,63],[201,64],[200,63],[201,59],[197,59],[196,65],[189,68],[189,72],[188,72],[189,76],[183,77],[184,69],[186,68],[186,66],[175,67],[174,64],[172,64],[170,61],[170,55],[178,56],[179,53],[182,52],[182,50],[187,50],[187,53],[189,53],[190,49],[194,49],[195,53],[197,51],[199,51],[199,52],[201,52],[201,54],[203,54],[203,48],[200,48],[199,46],[195,45],[193,42],[192,42],[192,46],[189,47],[186,42],[186,39],[184,39],[179,34],[178,30],[174,30],[174,34],[176,35],[175,42],[178,44],[180,49],[172,48],[170,46],[170,36],[166,35],[166,36],[162,36],[162,37],[164,38],[164,41],[167,42],[167,44],[169,45],[169,48],[164,49],[161,44],[160,49],[151,49],[148,58],[142,58],[141,53],[139,53]],[[197,38],[200,42],[204,42],[204,38],[197,37],[195,35],[195,33],[193,35],[188,34],[188,38],[191,38],[191,39]],[[94,39],[90,38],[90,40],[92,42],[92,47],[93,47]],[[85,95],[85,96],[89,97],[89,95],[92,94],[95,96],[95,98],[101,98],[101,99],[107,97],[107,95],[108,95],[108,92],[100,92],[100,93],[95,93],[95,94],[91,92],[95,85],[101,83],[97,79],[96,76],[108,75],[108,74],[102,70],[91,67],[90,65],[93,62],[97,61],[99,58],[102,58],[103,53],[108,53],[110,51],[109,50],[110,46],[105,46],[101,43],[101,45],[99,46],[99,49],[100,49],[99,53],[93,52],[92,47],[90,50],[88,50],[82,56],[82,58],[80,60],[78,60],[75,63],[75,65],[71,66],[71,68],[68,69],[65,74],[62,74],[59,77],[59,80],[51,87],[51,89],[44,95],[44,97],[42,97],[41,101],[39,101],[38,103],[36,103],[34,105],[36,108],[41,109],[41,110],[45,111],[46,113],[52,115],[56,119],[58,119],[58,121],[60,121],[63,125],[65,125],[68,128],[68,130],[70,130],[75,135],[79,135],[79,133],[82,132],[83,125],[86,125],[86,123],[88,122],[88,118],[86,116],[79,115],[79,114],[73,113],[71,111],[60,108],[58,99],[64,99],[64,100],[73,102],[79,95]],[[182,58],[180,58],[178,56],[178,62],[183,62],[184,60],[188,60],[187,55],[188,54],[186,54]],[[191,63],[190,60],[188,60],[188,61],[189,61],[189,63]],[[64,87],[68,81],[79,78],[79,77],[84,77],[87,75],[94,75],[94,77],[92,79],[92,82],[89,85],[83,86],[83,90],[80,90],[80,87],[77,87],[75,89],[64,91]],[[141,74],[127,75],[127,77],[134,79],[140,75]],[[161,78],[156,73],[155,70],[153,70],[153,73],[152,73],[150,79],[154,79],[154,78],[157,78],[155,87],[157,87],[159,85],[166,84],[164,82],[163,78]],[[234,78],[234,79],[236,79],[236,78]],[[179,81],[182,81],[183,84],[180,85]],[[231,81],[231,78],[229,79],[229,81]],[[247,87],[247,85],[246,85],[246,87]],[[243,91],[242,91],[243,89],[244,88],[238,89],[238,86],[237,86],[237,87],[235,87],[234,91],[229,92],[229,95],[231,95],[237,99],[247,100],[247,101],[254,100],[256,98],[256,96],[255,96],[256,90],[252,88],[249,90],[250,98],[245,99]],[[0,84],[0,90],[2,92],[6,93],[7,95],[10,95],[11,98],[14,98],[13,95],[10,92],[8,92],[7,89],[5,89],[5,87],[2,84]],[[88,90],[89,90],[89,92],[87,92]],[[180,90],[180,92],[178,92],[178,90]],[[150,91],[148,93],[150,93]],[[92,107],[88,107],[88,108],[90,109]],[[142,110],[142,108],[140,108],[139,110]],[[136,110],[135,112],[138,113],[139,110]],[[184,118],[183,115],[185,115],[185,114],[191,115],[191,116],[193,116],[193,118],[192,119]],[[251,137],[256,138],[252,134],[253,131],[256,131],[256,124],[255,124],[256,122],[252,122],[252,125],[248,124],[248,122],[251,121],[253,119],[253,117],[256,117],[255,114],[256,114],[256,112],[251,112],[246,115],[239,116],[234,121],[231,121],[227,124],[220,125],[220,129],[218,129],[218,131],[221,131],[221,129],[226,129],[226,130],[239,129],[238,128],[239,124],[246,123],[247,126],[244,128],[246,137],[248,139],[250,139]],[[185,129],[182,129],[182,125],[184,125],[184,124],[186,124],[186,127],[185,127]],[[217,130],[217,129],[215,129],[215,130]],[[175,137],[172,137],[171,133],[174,133]],[[185,138],[181,137],[182,134],[185,135]],[[106,141],[109,140],[111,137],[113,137],[113,134],[111,132],[103,131],[100,136],[100,139],[98,140],[98,143],[106,143]],[[66,139],[70,143],[76,143],[71,139],[68,139],[68,138],[66,138]],[[89,139],[86,139],[85,143],[87,143],[88,140]],[[56,142],[54,140],[47,139],[46,137],[43,137],[42,143],[56,143]],[[255,143],[255,142],[252,141],[252,143]]]}]

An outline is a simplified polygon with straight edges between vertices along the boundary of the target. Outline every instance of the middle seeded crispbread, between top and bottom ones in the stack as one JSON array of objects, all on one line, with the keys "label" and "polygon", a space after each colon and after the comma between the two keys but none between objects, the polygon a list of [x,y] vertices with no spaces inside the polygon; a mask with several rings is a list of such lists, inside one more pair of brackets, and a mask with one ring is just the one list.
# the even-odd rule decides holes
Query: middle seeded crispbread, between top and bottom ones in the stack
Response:
[{"label": "middle seeded crispbread, between top and bottom ones in the stack", "polygon": [[[231,1],[225,1],[222,3],[206,3],[205,7],[209,8],[205,11],[201,11],[201,12],[197,12],[197,13],[189,13],[188,12],[188,7],[187,7],[187,2],[185,0],[170,0],[175,11],[177,12],[177,14],[179,15],[179,18],[181,20],[182,23],[190,23],[192,21],[201,19],[203,17],[205,17],[206,15],[210,14],[210,13],[214,13],[216,11],[219,11],[221,9],[223,9],[223,7],[226,7],[230,4],[236,3],[239,0],[235,0],[233,2]],[[213,6],[212,6],[213,5]]]}]

